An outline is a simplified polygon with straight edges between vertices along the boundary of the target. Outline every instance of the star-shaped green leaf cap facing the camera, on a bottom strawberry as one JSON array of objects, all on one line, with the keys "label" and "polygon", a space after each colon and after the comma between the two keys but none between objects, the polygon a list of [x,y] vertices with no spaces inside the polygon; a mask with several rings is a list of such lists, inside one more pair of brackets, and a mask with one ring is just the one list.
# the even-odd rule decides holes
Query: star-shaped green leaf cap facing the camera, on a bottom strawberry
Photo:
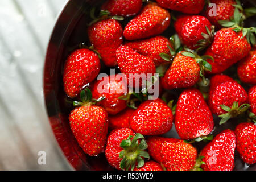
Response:
[{"label": "star-shaped green leaf cap facing the camera, on a bottom strawberry", "polygon": [[[141,142],[139,142],[139,139],[141,139]],[[120,147],[123,148],[119,153],[119,158],[122,159],[120,163],[122,170],[128,171],[131,169],[133,171],[136,163],[136,168],[141,168],[144,166],[143,158],[150,158],[149,154],[144,151],[147,149],[147,143],[142,134],[137,133],[134,137],[130,135],[126,140],[122,140]]]}]

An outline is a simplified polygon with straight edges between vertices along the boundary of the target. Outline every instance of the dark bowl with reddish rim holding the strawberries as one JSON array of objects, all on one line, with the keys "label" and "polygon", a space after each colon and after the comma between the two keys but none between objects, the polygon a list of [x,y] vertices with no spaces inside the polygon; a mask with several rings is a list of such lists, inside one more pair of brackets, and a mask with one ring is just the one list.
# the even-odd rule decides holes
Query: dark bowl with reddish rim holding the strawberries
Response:
[{"label": "dark bowl with reddish rim holding the strawberries", "polygon": [[[52,131],[55,134],[56,140],[59,143],[61,150],[75,170],[113,170],[106,161],[105,155],[100,154],[97,157],[85,155],[69,127],[68,115],[73,109],[69,103],[69,98],[63,90],[63,67],[65,59],[76,48],[79,48],[80,43],[90,44],[87,36],[87,24],[90,22],[89,12],[92,7],[100,7],[104,0],[72,0],[67,3],[62,13],[57,19],[55,28],[49,40],[46,60],[44,65],[44,99],[48,113],[49,123]],[[248,1],[243,1],[245,4]],[[252,3],[255,2],[251,1]],[[254,17],[255,18],[255,17]],[[128,19],[129,20],[129,19]],[[126,22],[122,22],[124,25]],[[246,24],[256,26],[255,20],[250,18]],[[174,28],[170,26],[164,31],[163,35],[170,37],[174,34]],[[108,73],[109,68],[102,65],[101,72]],[[233,74],[233,73],[230,73]],[[173,93],[177,95],[175,91]],[[218,127],[213,131],[213,134],[219,133],[225,128],[234,130],[234,121],[228,122],[224,127]],[[218,123],[218,118],[214,121]],[[230,125],[230,123],[233,123]],[[175,127],[164,137],[178,137]],[[205,144],[196,144],[198,150],[203,148]],[[256,170],[256,164],[247,166],[242,162],[236,152],[235,170]]]}]

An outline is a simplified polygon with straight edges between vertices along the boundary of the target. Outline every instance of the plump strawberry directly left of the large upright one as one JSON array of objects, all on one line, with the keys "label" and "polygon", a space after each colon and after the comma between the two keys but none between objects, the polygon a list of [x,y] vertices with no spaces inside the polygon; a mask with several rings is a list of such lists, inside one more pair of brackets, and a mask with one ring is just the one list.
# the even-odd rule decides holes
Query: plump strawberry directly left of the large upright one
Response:
[{"label": "plump strawberry directly left of the large upright one", "polygon": [[143,135],[160,135],[172,128],[172,110],[159,98],[139,105],[131,115],[131,129]]}]

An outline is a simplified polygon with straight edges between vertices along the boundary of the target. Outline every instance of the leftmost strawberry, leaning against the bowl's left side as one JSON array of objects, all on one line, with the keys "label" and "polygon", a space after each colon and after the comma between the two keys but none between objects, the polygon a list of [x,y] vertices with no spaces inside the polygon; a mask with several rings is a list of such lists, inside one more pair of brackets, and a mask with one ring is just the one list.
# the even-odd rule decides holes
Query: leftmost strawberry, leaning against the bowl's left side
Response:
[{"label": "leftmost strawberry, leaning against the bowl's left side", "polygon": [[100,68],[100,59],[93,51],[78,49],[72,52],[64,65],[65,93],[71,98],[76,97],[86,84],[97,77]]}]

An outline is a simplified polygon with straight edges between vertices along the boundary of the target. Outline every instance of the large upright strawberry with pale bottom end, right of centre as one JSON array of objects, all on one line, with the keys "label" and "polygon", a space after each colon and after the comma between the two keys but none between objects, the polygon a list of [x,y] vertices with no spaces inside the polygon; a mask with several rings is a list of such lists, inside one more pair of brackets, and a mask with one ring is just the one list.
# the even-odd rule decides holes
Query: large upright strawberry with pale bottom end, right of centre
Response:
[{"label": "large upright strawberry with pale bottom end, right of centre", "polygon": [[197,89],[180,94],[175,113],[175,127],[182,139],[202,138],[213,130],[213,117]]}]

